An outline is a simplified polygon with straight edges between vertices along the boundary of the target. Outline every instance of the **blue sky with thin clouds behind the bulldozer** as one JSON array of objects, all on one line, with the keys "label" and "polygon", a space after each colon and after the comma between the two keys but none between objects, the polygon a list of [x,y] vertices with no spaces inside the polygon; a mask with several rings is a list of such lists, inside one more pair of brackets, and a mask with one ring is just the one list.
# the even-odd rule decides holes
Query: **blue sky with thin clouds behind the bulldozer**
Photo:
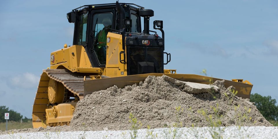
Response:
[{"label": "blue sky with thin clouds behind the bulldozer", "polygon": [[[0,1],[0,105],[28,118],[42,70],[50,67],[50,53],[72,45],[73,23],[66,14],[88,4],[116,0],[2,0]],[[163,20],[165,69],[230,80],[243,78],[251,93],[278,100],[278,1],[268,0],[129,0],[154,10]]]}]

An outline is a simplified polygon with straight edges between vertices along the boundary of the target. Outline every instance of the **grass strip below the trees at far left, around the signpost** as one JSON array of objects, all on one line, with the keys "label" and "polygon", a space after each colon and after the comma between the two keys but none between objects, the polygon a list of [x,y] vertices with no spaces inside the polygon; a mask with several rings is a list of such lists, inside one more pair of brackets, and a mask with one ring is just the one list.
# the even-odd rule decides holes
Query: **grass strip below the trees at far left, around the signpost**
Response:
[{"label": "grass strip below the trees at far left, around the signpost", "polygon": [[[29,122],[14,122],[14,121],[8,121],[8,130],[11,129],[24,129],[24,128],[33,128],[32,127],[32,121]],[[6,122],[0,123],[0,130],[6,131]]]}]

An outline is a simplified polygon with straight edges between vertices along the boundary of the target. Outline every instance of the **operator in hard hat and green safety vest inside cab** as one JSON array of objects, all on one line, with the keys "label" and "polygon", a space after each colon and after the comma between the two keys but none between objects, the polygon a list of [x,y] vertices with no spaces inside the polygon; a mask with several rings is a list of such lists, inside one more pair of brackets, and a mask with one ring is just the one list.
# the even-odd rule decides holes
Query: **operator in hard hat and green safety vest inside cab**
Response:
[{"label": "operator in hard hat and green safety vest inside cab", "polygon": [[100,64],[106,62],[106,39],[109,32],[109,28],[112,27],[112,22],[109,17],[105,17],[102,21],[104,28],[96,35],[96,53]]}]

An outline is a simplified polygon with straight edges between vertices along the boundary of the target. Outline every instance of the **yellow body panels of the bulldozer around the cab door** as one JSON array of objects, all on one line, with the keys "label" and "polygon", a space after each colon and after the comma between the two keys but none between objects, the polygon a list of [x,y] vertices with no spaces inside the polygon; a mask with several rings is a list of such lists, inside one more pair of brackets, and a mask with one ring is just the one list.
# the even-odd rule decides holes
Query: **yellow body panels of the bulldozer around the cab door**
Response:
[{"label": "yellow body panels of the bulldozer around the cab door", "polygon": [[[68,69],[72,72],[94,73],[95,75],[105,75],[109,77],[126,76],[127,65],[120,64],[119,52],[122,49],[122,35],[108,32],[107,38],[111,41],[107,43],[106,67],[92,67],[88,55],[82,45],[73,45],[51,53],[50,69]],[[122,55],[123,57],[123,55]]]}]

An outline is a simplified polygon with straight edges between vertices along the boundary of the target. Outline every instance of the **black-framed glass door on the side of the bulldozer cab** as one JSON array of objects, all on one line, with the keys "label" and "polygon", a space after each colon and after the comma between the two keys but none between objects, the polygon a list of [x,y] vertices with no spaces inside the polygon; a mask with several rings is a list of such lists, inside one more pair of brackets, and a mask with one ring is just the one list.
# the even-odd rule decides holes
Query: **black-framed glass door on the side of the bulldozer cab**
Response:
[{"label": "black-framed glass door on the side of the bulldozer cab", "polygon": [[[88,47],[87,55],[94,67],[105,67],[106,63],[106,36],[115,28],[115,10],[101,9],[91,10],[89,25],[87,26]],[[107,20],[110,20],[109,29]]]}]

